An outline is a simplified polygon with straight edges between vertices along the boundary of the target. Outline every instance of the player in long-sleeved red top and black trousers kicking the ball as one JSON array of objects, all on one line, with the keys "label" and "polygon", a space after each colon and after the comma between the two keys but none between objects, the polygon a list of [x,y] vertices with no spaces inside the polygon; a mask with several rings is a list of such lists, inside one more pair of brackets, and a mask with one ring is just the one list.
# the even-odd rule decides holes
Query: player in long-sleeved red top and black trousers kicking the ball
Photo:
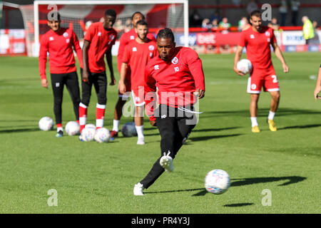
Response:
[{"label": "player in long-sleeved red top and black trousers kicking the ball", "polygon": [[[173,172],[173,159],[196,125],[193,105],[205,94],[202,61],[198,54],[191,48],[175,47],[170,28],[158,32],[156,43],[159,56],[152,58],[146,66],[145,90],[152,93],[150,91],[158,88],[160,105],[154,115],[161,135],[161,157],[148,175],[135,185],[134,195],[143,195],[143,190],[165,170]],[[146,99],[148,97],[147,94]],[[149,109],[148,105],[146,109]]]}]

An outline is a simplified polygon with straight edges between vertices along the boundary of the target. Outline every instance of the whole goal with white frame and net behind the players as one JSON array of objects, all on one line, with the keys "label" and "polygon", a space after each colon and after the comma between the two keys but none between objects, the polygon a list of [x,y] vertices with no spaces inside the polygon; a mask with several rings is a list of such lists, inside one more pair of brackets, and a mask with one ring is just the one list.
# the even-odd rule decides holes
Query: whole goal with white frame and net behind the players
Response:
[{"label": "whole goal with white frame and net behind the players", "polygon": [[[188,0],[119,0],[119,1],[34,1],[34,46],[33,56],[38,56],[41,36],[49,31],[47,14],[58,10],[61,26],[73,28],[81,45],[84,33],[90,24],[103,20],[107,9],[117,14],[113,28],[121,35],[132,28],[131,16],[140,11],[146,16],[149,32],[154,36],[161,28],[172,28],[178,46],[188,46]],[[116,55],[118,43],[113,46]]]}]

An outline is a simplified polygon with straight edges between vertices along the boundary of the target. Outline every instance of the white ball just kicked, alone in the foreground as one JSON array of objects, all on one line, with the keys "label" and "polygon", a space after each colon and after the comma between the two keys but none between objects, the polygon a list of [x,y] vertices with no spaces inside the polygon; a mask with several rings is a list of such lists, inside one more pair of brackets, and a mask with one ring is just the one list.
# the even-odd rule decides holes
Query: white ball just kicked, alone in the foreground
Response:
[{"label": "white ball just kicked, alone in the foreground", "polygon": [[230,187],[230,175],[224,170],[211,170],[205,176],[205,189],[214,194],[222,194]]}]

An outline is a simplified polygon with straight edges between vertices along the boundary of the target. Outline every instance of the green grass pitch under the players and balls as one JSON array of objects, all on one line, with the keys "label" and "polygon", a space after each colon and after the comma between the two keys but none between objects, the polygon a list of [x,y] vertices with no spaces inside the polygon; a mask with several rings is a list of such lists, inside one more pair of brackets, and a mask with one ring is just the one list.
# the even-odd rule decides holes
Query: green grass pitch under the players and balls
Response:
[{"label": "green grass pitch under the players and balls", "polygon": [[[270,95],[262,93],[256,134],[247,79],[233,72],[234,56],[200,56],[204,113],[174,160],[175,172],[165,172],[144,197],[133,196],[133,186],[161,154],[158,130],[147,118],[143,146],[122,136],[106,144],[56,138],[56,130],[38,128],[41,117],[54,118],[52,90],[41,87],[38,59],[1,57],[0,213],[320,213],[321,103],[313,99],[310,76],[317,76],[321,56],[284,55],[287,74],[272,56],[281,88],[278,130],[268,130]],[[113,63],[116,71],[116,58]],[[117,99],[117,87],[108,86],[108,129]],[[93,92],[88,123],[95,123],[95,106]],[[63,126],[69,120],[74,115],[65,89]],[[131,120],[122,118],[121,125]],[[230,174],[223,195],[205,192],[204,177],[213,169]],[[58,193],[57,207],[47,204],[51,189]],[[263,190],[270,190],[271,206],[263,206]]]}]

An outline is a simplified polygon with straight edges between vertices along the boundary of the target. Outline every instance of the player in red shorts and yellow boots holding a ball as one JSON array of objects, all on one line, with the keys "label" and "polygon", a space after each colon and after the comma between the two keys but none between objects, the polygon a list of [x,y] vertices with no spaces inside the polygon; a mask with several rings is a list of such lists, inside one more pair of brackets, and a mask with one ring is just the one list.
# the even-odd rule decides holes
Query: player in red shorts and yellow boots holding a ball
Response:
[{"label": "player in red shorts and yellow boots holding a ball", "polygon": [[240,76],[244,73],[236,67],[240,56],[242,55],[243,47],[246,47],[246,56],[253,65],[253,71],[248,78],[248,93],[251,95],[250,100],[250,117],[252,122],[252,132],[259,133],[258,128],[258,99],[262,87],[264,91],[268,91],[272,97],[270,103],[270,113],[267,117],[267,123],[271,131],[276,131],[274,116],[277,106],[280,101],[280,88],[275,75],[275,70],[271,61],[270,45],[274,48],[275,56],[281,61],[282,68],[285,73],[289,71],[285,59],[282,56],[282,51],[277,46],[273,29],[267,26],[262,26],[261,12],[255,10],[250,15],[252,27],[243,31],[240,36],[238,48],[235,52],[234,71]]}]

